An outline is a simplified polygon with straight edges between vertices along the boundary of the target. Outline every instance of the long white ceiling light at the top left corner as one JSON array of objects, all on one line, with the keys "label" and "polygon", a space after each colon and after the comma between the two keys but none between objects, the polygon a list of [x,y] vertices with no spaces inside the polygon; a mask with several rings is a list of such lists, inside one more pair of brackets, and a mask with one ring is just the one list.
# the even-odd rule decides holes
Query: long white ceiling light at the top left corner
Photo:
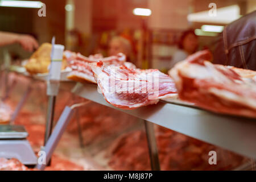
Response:
[{"label": "long white ceiling light at the top left corner", "polygon": [[40,1],[9,1],[1,0],[0,6],[2,7],[28,7],[28,8],[41,8],[42,2]]}]

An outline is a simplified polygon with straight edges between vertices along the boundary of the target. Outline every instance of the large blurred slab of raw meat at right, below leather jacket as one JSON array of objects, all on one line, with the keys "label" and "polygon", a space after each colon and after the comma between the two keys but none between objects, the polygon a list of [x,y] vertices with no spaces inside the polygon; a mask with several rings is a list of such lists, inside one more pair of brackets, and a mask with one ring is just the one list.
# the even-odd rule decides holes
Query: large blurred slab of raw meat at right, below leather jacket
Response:
[{"label": "large blurred slab of raw meat at right, below leather jacket", "polygon": [[210,57],[209,51],[200,51],[171,69],[181,100],[216,113],[256,118],[253,71],[214,65],[206,61]]}]

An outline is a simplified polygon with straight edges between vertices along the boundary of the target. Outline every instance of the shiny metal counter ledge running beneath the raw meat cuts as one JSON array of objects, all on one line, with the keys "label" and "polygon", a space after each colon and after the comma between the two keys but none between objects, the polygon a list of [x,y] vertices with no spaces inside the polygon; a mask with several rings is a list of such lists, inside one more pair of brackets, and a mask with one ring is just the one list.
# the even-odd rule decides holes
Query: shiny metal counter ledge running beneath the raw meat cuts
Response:
[{"label": "shiny metal counter ledge running beneath the raw meat cuts", "polygon": [[135,110],[122,110],[110,105],[94,84],[76,84],[76,95],[112,107],[134,117],[155,123],[204,142],[256,158],[256,120],[215,114],[192,105],[160,101]]}]

